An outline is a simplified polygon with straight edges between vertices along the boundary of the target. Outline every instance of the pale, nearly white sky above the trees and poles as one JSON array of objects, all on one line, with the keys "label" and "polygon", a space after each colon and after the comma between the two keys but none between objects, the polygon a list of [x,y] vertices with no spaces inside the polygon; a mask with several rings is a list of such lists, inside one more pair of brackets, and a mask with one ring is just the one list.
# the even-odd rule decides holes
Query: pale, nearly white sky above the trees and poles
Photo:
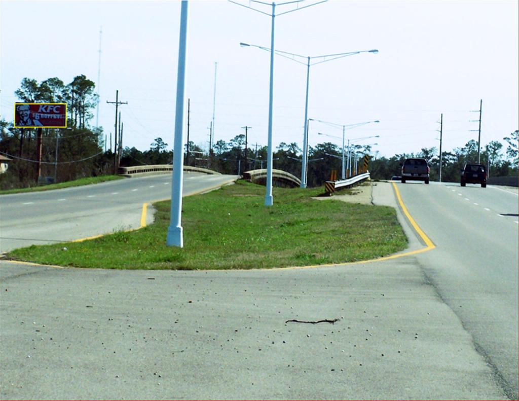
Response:
[{"label": "pale, nearly white sky above the trees and poles", "polygon": [[[245,0],[242,4],[249,5]],[[310,4],[312,2],[305,2]],[[270,12],[270,7],[255,5]],[[279,7],[288,10],[292,6]],[[102,54],[99,125],[113,132],[120,106],[124,145],[146,150],[156,137],[173,144],[180,2],[0,3],[0,105],[12,121],[22,78],[85,74],[97,82]],[[337,124],[378,119],[347,130],[347,138],[379,135],[380,155],[443,149],[477,140],[483,99],[482,144],[518,125],[517,1],[342,1],[276,18],[275,48],[318,56],[378,49],[310,68],[309,117]],[[240,42],[270,46],[270,18],[235,4],[189,2],[186,96],[190,140],[207,148],[216,81],[215,140],[229,141],[252,126],[249,143],[267,144],[269,54]],[[303,145],[306,67],[275,59],[274,144]],[[94,113],[95,114],[95,113]],[[95,124],[95,117],[92,124]],[[309,144],[340,139],[342,130],[310,122]],[[504,141],[502,141],[504,142]]]}]

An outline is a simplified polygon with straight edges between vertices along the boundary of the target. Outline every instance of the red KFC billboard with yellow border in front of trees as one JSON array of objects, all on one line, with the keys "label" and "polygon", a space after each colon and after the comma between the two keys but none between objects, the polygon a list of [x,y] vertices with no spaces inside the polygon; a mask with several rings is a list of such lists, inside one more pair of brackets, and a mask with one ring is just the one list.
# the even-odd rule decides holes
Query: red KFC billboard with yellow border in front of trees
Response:
[{"label": "red KFC billboard with yellow border in front of trees", "polygon": [[66,103],[15,103],[15,128],[66,128]]}]

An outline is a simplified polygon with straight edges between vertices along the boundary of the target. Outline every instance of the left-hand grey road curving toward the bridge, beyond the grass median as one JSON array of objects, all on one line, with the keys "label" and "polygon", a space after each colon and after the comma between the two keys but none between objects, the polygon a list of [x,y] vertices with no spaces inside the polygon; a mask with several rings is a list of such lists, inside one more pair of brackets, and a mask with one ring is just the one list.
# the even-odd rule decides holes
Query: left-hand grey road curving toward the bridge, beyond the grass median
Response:
[{"label": "left-hand grey road curving toward the bridge, beyond the grass median", "polygon": [[[183,195],[217,188],[238,176],[184,172]],[[143,203],[171,198],[171,174],[56,191],[0,196],[0,253],[141,226]],[[146,213],[153,221],[153,210]]]}]

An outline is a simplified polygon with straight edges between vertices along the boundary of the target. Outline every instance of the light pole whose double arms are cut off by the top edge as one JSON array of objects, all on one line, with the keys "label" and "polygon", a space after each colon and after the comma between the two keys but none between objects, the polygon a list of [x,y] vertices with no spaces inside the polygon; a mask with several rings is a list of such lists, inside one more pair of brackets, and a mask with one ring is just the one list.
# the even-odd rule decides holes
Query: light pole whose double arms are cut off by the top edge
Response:
[{"label": "light pole whose double arms are cut off by the top edge", "polygon": [[[285,12],[280,12],[278,16],[283,14],[288,14],[292,11],[302,10],[307,7],[315,6],[320,3],[324,3],[327,0],[322,0],[317,3],[310,4],[308,6],[299,7],[296,9],[292,9]],[[271,22],[271,30],[270,30],[270,84],[269,84],[269,101],[268,101],[268,141],[267,141],[267,182],[266,185],[266,192],[265,192],[265,206],[272,206],[274,199],[272,199],[272,99],[274,97],[274,22],[276,18],[276,3],[272,3],[272,14],[268,14],[267,12],[258,10],[256,8],[252,8],[249,6],[245,6],[240,3],[236,3],[232,0],[229,0],[230,3],[237,4],[242,7],[249,8],[254,11],[261,12],[261,14],[265,14],[267,16],[270,16],[272,18]],[[250,0],[252,3],[258,3],[263,5],[269,5],[268,3],[260,2],[258,0]],[[284,6],[286,4],[293,4],[293,3],[300,3],[301,0],[296,1],[290,1],[285,3],[280,3],[278,6]]]}]

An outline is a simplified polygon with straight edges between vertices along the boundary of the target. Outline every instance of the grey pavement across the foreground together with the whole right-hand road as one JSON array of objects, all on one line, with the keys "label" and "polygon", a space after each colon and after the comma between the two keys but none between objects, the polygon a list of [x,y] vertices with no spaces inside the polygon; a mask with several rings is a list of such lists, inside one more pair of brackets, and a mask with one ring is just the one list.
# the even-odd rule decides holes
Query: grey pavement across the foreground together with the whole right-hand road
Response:
[{"label": "grey pavement across the foreground together with the whole right-hand road", "polygon": [[[377,183],[374,203],[397,207],[409,237],[394,259],[188,272],[0,261],[0,398],[516,399],[516,190],[397,186],[426,239]],[[335,322],[302,323],[319,320]]]}]

